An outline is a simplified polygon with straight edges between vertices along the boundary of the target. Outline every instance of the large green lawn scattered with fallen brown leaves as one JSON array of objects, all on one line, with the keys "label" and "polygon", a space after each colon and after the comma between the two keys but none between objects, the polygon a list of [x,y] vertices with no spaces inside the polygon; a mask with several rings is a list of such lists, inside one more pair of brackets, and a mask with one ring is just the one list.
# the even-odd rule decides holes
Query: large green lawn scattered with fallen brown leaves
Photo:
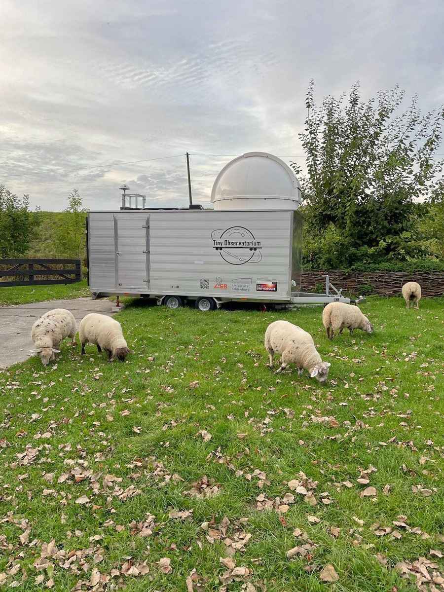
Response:
[{"label": "large green lawn scattered with fallen brown leaves", "polygon": [[[118,316],[137,352],[126,363],[108,363],[92,346],[82,358],[65,342],[46,368],[33,358],[2,372],[3,583],[42,590],[52,577],[54,590],[73,590],[79,581],[91,583],[96,568],[105,579],[118,570],[105,590],[124,584],[134,592],[185,592],[196,570],[201,578],[188,585],[215,592],[225,589],[220,558],[227,539],[245,534],[251,536],[234,560],[250,571],[228,581],[228,592],[413,590],[394,566],[420,557],[439,566],[430,574],[443,573],[444,560],[430,549],[443,551],[444,300],[420,305],[407,311],[399,298],[370,298],[362,309],[375,333],[357,330],[353,339],[344,333],[329,342],[320,307],[200,313],[134,300]],[[332,363],[326,385],[307,372],[275,376],[266,368],[263,334],[278,318],[313,334]],[[313,421],[322,417],[329,419]],[[211,439],[205,442],[200,430]],[[16,465],[27,446],[39,448],[37,455]],[[73,474],[60,480],[72,469],[78,482]],[[357,482],[369,470],[369,483]],[[318,481],[315,506],[288,486],[301,471],[307,489]],[[54,474],[52,482],[45,474]],[[121,481],[108,477],[106,486],[105,475]],[[218,494],[186,493],[204,475]],[[432,494],[415,493],[418,485]],[[131,486],[136,494],[120,499]],[[377,495],[360,497],[369,486]],[[287,493],[295,500],[284,514],[272,505],[257,509],[260,494],[273,504]],[[82,496],[90,501],[75,503]],[[192,513],[169,517],[179,510]],[[153,532],[141,537],[138,525],[148,514]],[[230,524],[221,530],[224,517]],[[202,528],[205,522],[213,531]],[[400,538],[377,536],[383,527]],[[52,540],[49,567],[37,570]],[[305,556],[287,558],[303,545]],[[170,559],[170,574],[157,568],[160,558]],[[146,561],[149,574],[121,575],[128,561]],[[337,572],[335,583],[320,579],[327,564]]]}]

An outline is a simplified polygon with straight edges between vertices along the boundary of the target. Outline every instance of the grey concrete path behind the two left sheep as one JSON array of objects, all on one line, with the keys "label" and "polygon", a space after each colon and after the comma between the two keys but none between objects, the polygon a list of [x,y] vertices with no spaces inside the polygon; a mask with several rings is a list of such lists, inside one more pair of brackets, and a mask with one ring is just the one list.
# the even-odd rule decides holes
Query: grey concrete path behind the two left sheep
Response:
[{"label": "grey concrete path behind the two left sheep", "polygon": [[[24,362],[32,356],[30,349],[34,345],[31,340],[31,328],[34,321],[53,308],[67,308],[76,321],[81,321],[88,313],[102,313],[112,316],[112,303],[91,298],[75,298],[75,300],[50,300],[33,304],[15,304],[0,307],[0,368],[8,368],[17,362]],[[70,343],[67,340],[67,343]]]}]

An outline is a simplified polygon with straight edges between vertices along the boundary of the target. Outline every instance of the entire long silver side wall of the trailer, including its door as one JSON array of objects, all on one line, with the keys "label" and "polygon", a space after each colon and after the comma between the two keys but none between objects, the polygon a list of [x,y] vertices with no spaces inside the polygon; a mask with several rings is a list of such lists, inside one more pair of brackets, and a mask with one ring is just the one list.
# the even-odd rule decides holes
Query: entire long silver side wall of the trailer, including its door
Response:
[{"label": "entire long silver side wall of the trailer, including its door", "polygon": [[146,211],[89,213],[92,292],[291,297],[292,211],[152,210],[149,215],[147,233]]}]

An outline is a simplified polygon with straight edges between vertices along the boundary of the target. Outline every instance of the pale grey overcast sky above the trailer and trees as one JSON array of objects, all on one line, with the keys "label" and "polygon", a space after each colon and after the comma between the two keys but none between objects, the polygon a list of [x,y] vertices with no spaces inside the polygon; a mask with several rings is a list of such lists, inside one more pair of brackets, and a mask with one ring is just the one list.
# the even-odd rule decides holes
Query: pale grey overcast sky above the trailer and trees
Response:
[{"label": "pale grey overcast sky above the trailer and trees", "polygon": [[442,0],[2,0],[0,184],[43,210],[73,188],[117,209],[122,183],[186,206],[188,150],[208,204],[234,156],[301,161],[311,78],[317,102],[360,81],[442,105],[443,21]]}]

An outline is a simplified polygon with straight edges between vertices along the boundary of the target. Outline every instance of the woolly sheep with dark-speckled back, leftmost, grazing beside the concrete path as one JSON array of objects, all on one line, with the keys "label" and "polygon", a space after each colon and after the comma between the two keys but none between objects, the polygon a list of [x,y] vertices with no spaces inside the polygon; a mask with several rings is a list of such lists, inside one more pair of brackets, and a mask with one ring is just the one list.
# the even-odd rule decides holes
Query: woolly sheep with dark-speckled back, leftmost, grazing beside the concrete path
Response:
[{"label": "woolly sheep with dark-speckled back, leftmost, grazing beside the concrete path", "polygon": [[72,313],[66,308],[54,308],[36,320],[31,329],[31,339],[34,348],[30,351],[37,353],[44,366],[54,359],[54,353],[59,353],[60,343],[69,337],[75,346],[77,323]]}]

